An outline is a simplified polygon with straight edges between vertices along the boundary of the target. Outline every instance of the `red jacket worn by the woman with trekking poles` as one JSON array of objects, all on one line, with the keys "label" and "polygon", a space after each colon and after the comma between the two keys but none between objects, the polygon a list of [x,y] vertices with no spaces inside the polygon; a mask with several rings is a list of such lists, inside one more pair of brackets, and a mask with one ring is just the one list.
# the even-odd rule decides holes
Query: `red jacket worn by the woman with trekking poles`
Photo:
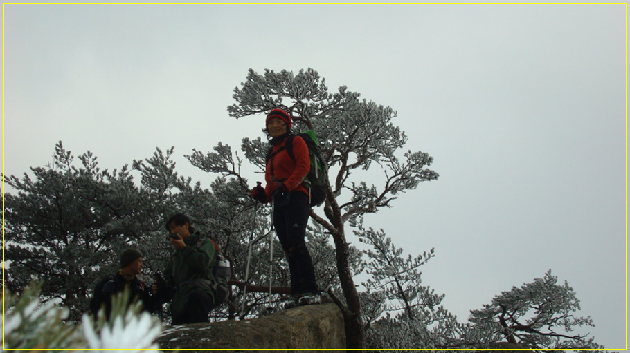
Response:
[{"label": "red jacket worn by the woman with trekking poles", "polygon": [[[304,178],[311,169],[311,158],[309,157],[309,150],[306,146],[306,142],[302,137],[293,137],[293,155],[296,158],[294,161],[287,149],[274,153],[285,146],[287,139],[276,144],[271,149],[271,158],[267,162],[267,168],[264,173],[264,180],[269,184],[273,181],[281,181],[285,185],[285,188],[289,191],[302,191],[308,195],[309,191],[302,185]],[[271,166],[273,164],[273,168]],[[273,175],[272,175],[273,169]],[[267,188],[268,190],[268,188]],[[267,199],[271,200],[272,195],[267,195]]]}]

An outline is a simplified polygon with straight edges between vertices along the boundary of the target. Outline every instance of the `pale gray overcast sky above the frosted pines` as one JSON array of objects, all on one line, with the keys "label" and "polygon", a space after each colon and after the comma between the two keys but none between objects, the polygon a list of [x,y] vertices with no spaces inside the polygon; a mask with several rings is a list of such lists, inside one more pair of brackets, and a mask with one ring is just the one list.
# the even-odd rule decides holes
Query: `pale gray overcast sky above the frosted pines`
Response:
[{"label": "pale gray overcast sky above the frosted pines", "polygon": [[[247,70],[314,68],[391,106],[439,180],[366,218],[465,321],[548,269],[606,348],[626,347],[626,5],[4,6],[8,175],[62,140],[119,169],[175,146],[237,149]],[[381,171],[370,170],[375,180]],[[251,175],[250,180],[256,180]],[[350,241],[358,243],[350,237]]]}]

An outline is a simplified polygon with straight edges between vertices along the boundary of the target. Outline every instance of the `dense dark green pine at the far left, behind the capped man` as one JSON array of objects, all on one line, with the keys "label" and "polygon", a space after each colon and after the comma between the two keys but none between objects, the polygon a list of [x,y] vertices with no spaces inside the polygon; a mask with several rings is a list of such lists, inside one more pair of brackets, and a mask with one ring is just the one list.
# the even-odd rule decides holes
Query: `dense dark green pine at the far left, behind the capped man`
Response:
[{"label": "dense dark green pine at the far left, behind the capped man", "polygon": [[116,270],[117,256],[141,232],[134,217],[145,204],[127,166],[101,170],[91,152],[75,163],[62,142],[53,162],[4,181],[6,282],[22,292],[43,280],[42,300],[60,300],[78,321],[100,278]]}]

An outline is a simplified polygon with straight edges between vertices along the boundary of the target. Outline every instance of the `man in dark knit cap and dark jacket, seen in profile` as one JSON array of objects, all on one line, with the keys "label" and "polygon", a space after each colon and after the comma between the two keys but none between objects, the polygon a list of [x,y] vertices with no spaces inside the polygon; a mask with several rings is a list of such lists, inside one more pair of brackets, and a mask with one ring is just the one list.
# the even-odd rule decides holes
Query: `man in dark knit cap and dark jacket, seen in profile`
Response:
[{"label": "man in dark knit cap and dark jacket, seen in profile", "polygon": [[90,302],[90,310],[96,316],[105,305],[105,317],[109,320],[111,314],[111,298],[114,294],[123,292],[125,287],[129,288],[131,296],[129,303],[134,300],[141,300],[143,309],[147,312],[154,312],[156,309],[155,300],[152,297],[151,288],[137,275],[141,273],[143,258],[140,251],[136,249],[126,249],[120,254],[120,270],[113,276],[109,276],[98,283],[94,289],[93,298]]}]

